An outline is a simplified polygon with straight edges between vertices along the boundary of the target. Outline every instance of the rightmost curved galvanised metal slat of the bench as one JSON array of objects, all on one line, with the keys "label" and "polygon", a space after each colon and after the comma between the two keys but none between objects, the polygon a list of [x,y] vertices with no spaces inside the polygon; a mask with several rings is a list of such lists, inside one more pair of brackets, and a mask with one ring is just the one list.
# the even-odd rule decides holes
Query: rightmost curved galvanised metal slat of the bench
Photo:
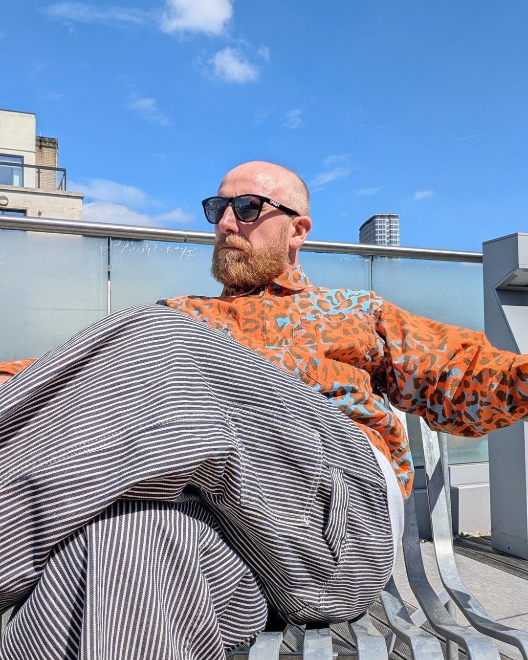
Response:
[{"label": "rightmost curved galvanised metal slat of the bench", "polygon": [[521,651],[528,660],[528,632],[515,630],[496,622],[477,601],[473,593],[467,589],[461,580],[455,557],[449,521],[446,517],[447,502],[444,488],[444,474],[440,459],[440,447],[437,434],[422,420],[422,440],[424,443],[424,458],[428,498],[431,511],[431,526],[434,537],[434,551],[438,572],[449,595],[457,603],[459,609],[469,622],[480,632],[490,635],[501,642],[512,644]]}]

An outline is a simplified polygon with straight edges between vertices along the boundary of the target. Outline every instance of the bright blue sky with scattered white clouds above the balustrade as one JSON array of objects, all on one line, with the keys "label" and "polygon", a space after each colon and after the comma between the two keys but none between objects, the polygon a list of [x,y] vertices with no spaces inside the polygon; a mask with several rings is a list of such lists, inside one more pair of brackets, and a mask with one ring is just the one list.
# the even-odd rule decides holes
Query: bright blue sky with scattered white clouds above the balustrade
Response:
[{"label": "bright blue sky with scattered white clouds above the balustrade", "polygon": [[312,190],[311,238],[480,250],[527,230],[524,0],[141,0],[3,8],[0,107],[59,139],[84,218],[210,230],[245,160]]}]

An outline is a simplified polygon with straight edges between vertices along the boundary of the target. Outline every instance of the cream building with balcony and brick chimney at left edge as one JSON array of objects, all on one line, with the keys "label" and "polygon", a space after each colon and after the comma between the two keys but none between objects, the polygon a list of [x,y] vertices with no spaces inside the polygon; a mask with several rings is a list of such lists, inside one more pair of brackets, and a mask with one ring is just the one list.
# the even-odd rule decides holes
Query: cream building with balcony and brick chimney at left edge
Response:
[{"label": "cream building with balcony and brick chimney at left edge", "polygon": [[0,215],[81,220],[84,195],[58,164],[57,138],[36,135],[32,112],[0,110]]}]

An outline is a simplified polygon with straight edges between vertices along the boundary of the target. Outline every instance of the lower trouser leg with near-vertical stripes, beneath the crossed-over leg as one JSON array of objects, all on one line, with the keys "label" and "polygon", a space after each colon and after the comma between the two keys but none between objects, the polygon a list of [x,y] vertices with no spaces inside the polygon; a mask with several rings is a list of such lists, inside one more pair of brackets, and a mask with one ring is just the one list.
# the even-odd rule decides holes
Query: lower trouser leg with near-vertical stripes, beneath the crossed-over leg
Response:
[{"label": "lower trouser leg with near-vertical stripes, beneath the crossed-over leg", "polygon": [[0,653],[223,658],[266,617],[255,579],[209,525],[174,504],[117,500],[53,548]]}]

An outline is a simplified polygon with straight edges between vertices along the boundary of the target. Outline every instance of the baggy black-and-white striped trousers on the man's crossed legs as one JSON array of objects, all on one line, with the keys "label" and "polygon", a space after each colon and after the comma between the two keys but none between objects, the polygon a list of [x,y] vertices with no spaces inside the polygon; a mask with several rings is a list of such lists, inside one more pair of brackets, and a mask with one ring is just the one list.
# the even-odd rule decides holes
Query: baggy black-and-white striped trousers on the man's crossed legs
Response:
[{"label": "baggy black-and-white striped trousers on the man's crossed legs", "polygon": [[0,388],[0,659],[216,660],[342,621],[403,502],[359,426],[170,308],[101,319]]}]

